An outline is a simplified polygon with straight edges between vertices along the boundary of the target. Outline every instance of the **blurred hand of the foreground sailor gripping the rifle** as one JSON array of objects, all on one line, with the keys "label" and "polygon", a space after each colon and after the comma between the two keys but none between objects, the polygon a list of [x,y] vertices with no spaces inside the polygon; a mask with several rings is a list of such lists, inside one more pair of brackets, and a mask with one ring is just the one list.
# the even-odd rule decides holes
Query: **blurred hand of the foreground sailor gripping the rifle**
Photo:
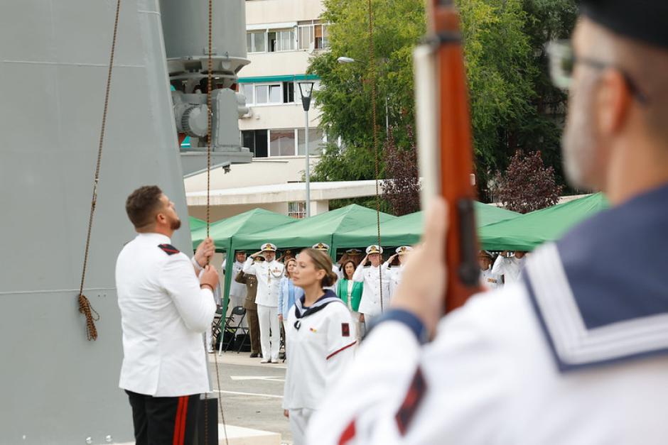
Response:
[{"label": "blurred hand of the foreground sailor gripping the rifle", "polygon": [[415,314],[430,335],[443,314],[447,213],[445,200],[434,198],[425,218],[423,243],[406,261],[402,282],[392,297],[392,307]]}]

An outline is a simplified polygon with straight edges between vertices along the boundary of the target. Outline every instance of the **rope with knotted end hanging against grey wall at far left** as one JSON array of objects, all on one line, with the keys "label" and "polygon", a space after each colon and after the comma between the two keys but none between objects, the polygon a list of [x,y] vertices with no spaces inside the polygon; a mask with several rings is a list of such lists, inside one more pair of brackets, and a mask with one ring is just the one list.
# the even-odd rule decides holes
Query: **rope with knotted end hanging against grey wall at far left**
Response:
[{"label": "rope with knotted end hanging against grey wall at far left", "polygon": [[104,111],[102,111],[102,127],[99,131],[99,146],[97,148],[97,164],[95,165],[95,181],[93,182],[93,195],[90,202],[90,216],[88,217],[88,233],[86,235],[86,248],[84,252],[84,263],[81,271],[81,285],[79,286],[79,312],[86,317],[87,339],[97,340],[97,329],[95,322],[99,320],[99,314],[92,308],[88,298],[83,295],[83,287],[86,280],[86,268],[88,265],[88,252],[90,250],[90,234],[93,226],[93,215],[95,204],[97,204],[97,185],[99,184],[99,166],[102,163],[102,143],[104,141],[104,128],[107,126],[107,110],[109,109],[109,90],[112,86],[112,68],[114,67],[114,53],[116,52],[116,36],[118,33],[119,11],[121,0],[116,4],[116,18],[114,19],[114,37],[112,38],[112,51],[109,55],[109,72],[107,73],[107,89],[104,92]]}]

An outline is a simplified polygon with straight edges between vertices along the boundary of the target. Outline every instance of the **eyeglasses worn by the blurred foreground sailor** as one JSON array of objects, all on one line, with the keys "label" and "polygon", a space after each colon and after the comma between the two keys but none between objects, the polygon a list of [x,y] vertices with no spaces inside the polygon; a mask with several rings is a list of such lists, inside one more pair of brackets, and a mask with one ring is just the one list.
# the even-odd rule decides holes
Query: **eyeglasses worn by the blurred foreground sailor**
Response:
[{"label": "eyeglasses worn by the blurred foreground sailor", "polygon": [[573,70],[575,65],[581,63],[596,70],[605,70],[614,68],[623,75],[630,92],[641,103],[647,103],[647,96],[637,87],[633,79],[627,75],[620,67],[610,62],[596,60],[591,57],[578,57],[573,52],[573,47],[569,40],[554,40],[547,44],[547,54],[550,60],[550,77],[555,87],[568,90],[573,82]]}]

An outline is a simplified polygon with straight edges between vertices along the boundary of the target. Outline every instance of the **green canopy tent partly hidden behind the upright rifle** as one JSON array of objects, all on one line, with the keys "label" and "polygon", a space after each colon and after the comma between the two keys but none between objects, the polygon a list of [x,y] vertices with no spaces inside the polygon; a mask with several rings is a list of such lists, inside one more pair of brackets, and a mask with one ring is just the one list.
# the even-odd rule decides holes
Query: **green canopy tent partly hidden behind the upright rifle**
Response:
[{"label": "green canopy tent partly hidden behind the upright rifle", "polygon": [[[487,224],[513,219],[520,216],[515,211],[500,209],[490,204],[475,202],[475,218],[478,229]],[[424,225],[424,213],[415,213],[390,219],[380,224],[380,241],[383,246],[406,246],[420,241]],[[334,235],[334,248],[369,246],[377,243],[377,224]]]}]

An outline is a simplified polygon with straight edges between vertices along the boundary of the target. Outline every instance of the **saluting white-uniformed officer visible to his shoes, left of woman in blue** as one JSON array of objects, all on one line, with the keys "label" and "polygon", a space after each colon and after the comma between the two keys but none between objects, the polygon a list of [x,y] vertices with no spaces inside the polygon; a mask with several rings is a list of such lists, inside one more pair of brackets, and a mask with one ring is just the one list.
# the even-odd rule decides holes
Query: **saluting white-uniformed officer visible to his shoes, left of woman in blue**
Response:
[{"label": "saluting white-uniformed officer visible to his shoes, left of woman in blue", "polygon": [[[254,258],[262,255],[264,261],[254,263]],[[243,271],[257,278],[257,318],[260,323],[260,363],[279,363],[281,347],[281,325],[279,324],[279,287],[285,266],[276,261],[276,246],[262,244],[262,251],[253,253],[244,263]]]}]

